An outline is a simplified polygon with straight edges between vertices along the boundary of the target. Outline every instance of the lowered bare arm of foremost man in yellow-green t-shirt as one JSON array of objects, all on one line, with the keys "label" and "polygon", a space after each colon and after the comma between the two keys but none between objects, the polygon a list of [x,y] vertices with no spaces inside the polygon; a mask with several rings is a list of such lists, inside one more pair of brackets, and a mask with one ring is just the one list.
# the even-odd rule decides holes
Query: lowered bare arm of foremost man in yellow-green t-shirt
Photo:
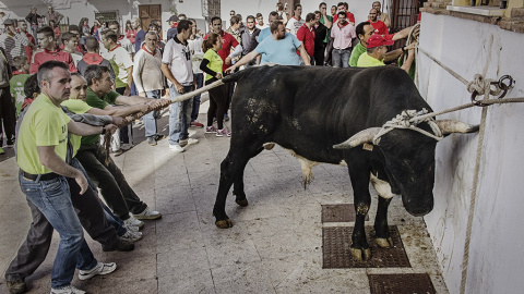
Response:
[{"label": "lowered bare arm of foremost man in yellow-green t-shirt", "polygon": [[55,146],[37,146],[41,166],[67,177],[73,177],[80,186],[80,194],[87,189],[87,180],[80,170],[69,166],[55,152]]}]

